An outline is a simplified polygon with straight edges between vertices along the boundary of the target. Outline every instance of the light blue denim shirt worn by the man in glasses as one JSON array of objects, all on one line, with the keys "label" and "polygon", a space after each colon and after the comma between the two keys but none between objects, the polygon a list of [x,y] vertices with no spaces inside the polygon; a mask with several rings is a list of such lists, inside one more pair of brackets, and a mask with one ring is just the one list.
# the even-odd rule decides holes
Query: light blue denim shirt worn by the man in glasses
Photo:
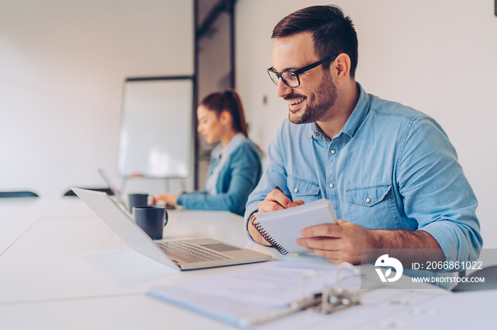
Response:
[{"label": "light blue denim shirt worn by the man in glasses", "polygon": [[280,125],[249,196],[245,229],[258,202],[279,186],[292,200],[327,198],[339,219],[368,229],[424,230],[447,261],[478,258],[478,203],[442,127],[357,86],[354,112],[331,141],[315,123]]}]

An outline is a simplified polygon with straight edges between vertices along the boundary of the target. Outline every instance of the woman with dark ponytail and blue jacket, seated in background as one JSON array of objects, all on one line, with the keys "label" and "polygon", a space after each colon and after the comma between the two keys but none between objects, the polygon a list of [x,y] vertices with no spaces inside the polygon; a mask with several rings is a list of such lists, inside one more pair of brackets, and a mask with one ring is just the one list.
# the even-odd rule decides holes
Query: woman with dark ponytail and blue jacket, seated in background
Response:
[{"label": "woman with dark ponytail and blue jacket, seated in background", "polygon": [[206,190],[157,195],[170,205],[196,210],[229,210],[244,215],[245,204],[261,178],[261,155],[248,138],[244,109],[235,91],[212,93],[197,108],[198,131],[212,150]]}]

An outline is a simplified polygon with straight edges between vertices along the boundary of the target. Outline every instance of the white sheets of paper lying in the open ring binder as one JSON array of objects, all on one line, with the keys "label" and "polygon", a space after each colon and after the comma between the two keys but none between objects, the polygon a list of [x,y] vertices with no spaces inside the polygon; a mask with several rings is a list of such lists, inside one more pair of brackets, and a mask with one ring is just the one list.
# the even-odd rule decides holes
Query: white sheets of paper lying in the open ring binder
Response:
[{"label": "white sheets of paper lying in the open ring binder", "polygon": [[[334,287],[337,266],[273,261],[180,285],[151,288],[150,292],[222,322],[250,326],[292,312],[290,304],[301,298],[300,277],[308,270],[325,278],[329,288]],[[340,278],[347,278],[349,285],[357,285],[359,280],[349,270],[342,270]],[[309,278],[304,289],[304,297],[310,297],[323,288]]]}]

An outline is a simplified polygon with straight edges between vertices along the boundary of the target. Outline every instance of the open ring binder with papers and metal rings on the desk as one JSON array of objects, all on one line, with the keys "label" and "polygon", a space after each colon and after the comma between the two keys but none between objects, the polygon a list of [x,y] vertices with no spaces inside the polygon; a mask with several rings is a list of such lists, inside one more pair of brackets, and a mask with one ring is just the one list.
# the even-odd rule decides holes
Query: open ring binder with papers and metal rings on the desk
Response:
[{"label": "open ring binder with papers and metal rings on the desk", "polygon": [[[320,285],[306,283],[310,277]],[[268,287],[274,289],[262,292],[261,288]],[[321,314],[359,305],[360,288],[359,270],[350,264],[343,263],[337,268],[273,261],[178,285],[152,288],[151,294],[222,322],[254,329],[294,313],[300,313],[296,319],[322,319]],[[268,324],[264,329],[270,327]]]}]

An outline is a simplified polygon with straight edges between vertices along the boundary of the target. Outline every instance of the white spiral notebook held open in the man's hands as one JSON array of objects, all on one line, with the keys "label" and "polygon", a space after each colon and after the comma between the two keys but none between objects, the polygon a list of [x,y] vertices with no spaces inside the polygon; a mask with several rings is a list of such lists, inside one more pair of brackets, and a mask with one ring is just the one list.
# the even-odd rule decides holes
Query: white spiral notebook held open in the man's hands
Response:
[{"label": "white spiral notebook held open in the man's hands", "polygon": [[258,232],[281,254],[309,252],[297,245],[302,229],[318,224],[338,223],[332,203],[324,198],[285,210],[254,215],[254,226]]}]

